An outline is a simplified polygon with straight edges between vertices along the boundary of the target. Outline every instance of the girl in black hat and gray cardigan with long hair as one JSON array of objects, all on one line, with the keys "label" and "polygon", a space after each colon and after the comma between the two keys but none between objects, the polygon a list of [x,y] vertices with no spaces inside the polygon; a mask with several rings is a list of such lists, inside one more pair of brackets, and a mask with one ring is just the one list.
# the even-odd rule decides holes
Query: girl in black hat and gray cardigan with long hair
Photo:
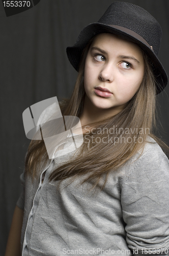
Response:
[{"label": "girl in black hat and gray cardigan with long hair", "polygon": [[168,255],[169,162],[152,134],[155,95],[167,84],[160,39],[147,11],[114,2],[67,48],[78,77],[60,106],[80,118],[83,143],[62,155],[68,137],[49,160],[32,140],[6,255],[19,255],[21,226],[24,256]]}]

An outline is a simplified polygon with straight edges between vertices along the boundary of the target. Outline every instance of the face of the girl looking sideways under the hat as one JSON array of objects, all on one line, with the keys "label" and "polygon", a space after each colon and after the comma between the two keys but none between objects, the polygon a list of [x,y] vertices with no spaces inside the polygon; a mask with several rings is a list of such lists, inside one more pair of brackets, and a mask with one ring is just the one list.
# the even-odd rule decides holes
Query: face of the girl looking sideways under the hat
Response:
[{"label": "face of the girl looking sideways under the hat", "polygon": [[117,114],[137,92],[144,69],[143,54],[136,44],[109,33],[97,35],[85,63],[88,104],[111,108]]}]

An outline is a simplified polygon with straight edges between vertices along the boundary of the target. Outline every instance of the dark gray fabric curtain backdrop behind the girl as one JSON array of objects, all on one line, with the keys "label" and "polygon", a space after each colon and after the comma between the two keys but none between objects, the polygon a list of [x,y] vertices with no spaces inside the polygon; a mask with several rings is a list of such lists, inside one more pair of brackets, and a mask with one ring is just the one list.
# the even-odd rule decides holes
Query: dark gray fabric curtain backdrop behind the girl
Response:
[{"label": "dark gray fabric curtain backdrop behind the girl", "polygon": [[[117,1],[117,0],[116,0]],[[169,74],[169,1],[130,0],[148,10],[163,30],[159,58]],[[96,22],[112,0],[41,0],[35,7],[6,17],[0,4],[1,33],[1,256],[4,255],[15,203],[21,191],[19,175],[30,140],[22,112],[30,105],[57,96],[69,97],[77,72],[66,47],[83,27]],[[169,88],[158,96],[159,134],[169,144]]]}]

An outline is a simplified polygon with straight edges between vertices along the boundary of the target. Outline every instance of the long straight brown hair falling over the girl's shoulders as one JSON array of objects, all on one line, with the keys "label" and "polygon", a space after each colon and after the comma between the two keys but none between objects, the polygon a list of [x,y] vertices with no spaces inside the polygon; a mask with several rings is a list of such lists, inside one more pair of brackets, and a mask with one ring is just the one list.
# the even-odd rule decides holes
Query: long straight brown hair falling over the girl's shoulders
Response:
[{"label": "long straight brown hair falling over the girl's shoulders", "polygon": [[[71,98],[61,104],[63,116],[80,117],[82,113],[85,98],[83,71],[90,44],[91,42],[83,51]],[[108,174],[112,170],[115,171],[138,151],[144,149],[148,135],[160,145],[164,145],[152,133],[155,125],[156,86],[148,57],[144,52],[143,56],[145,74],[138,91],[128,102],[126,108],[111,118],[90,124],[90,127],[95,127],[95,133],[89,129],[83,134],[84,141],[78,150],[78,154],[69,162],[53,170],[50,180],[62,181],[68,177],[75,179],[79,175],[84,175],[83,182],[92,181],[93,187],[95,187],[104,177],[103,187]],[[114,133],[110,133],[112,129],[114,129]],[[104,142],[105,138],[107,139],[106,143],[103,143],[103,137]],[[36,177],[38,169],[41,169],[47,160],[48,155],[44,142],[32,141],[25,161],[27,173]]]}]

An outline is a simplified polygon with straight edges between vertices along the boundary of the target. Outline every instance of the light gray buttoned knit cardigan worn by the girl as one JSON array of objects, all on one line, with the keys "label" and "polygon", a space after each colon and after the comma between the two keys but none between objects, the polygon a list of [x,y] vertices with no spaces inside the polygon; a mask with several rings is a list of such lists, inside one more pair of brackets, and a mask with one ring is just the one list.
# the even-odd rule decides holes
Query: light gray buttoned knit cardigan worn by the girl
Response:
[{"label": "light gray buttoned knit cardigan worn by the girl", "polygon": [[169,255],[169,161],[151,141],[111,172],[102,191],[81,178],[59,189],[49,182],[73,152],[44,166],[38,180],[21,175],[22,255]]}]

